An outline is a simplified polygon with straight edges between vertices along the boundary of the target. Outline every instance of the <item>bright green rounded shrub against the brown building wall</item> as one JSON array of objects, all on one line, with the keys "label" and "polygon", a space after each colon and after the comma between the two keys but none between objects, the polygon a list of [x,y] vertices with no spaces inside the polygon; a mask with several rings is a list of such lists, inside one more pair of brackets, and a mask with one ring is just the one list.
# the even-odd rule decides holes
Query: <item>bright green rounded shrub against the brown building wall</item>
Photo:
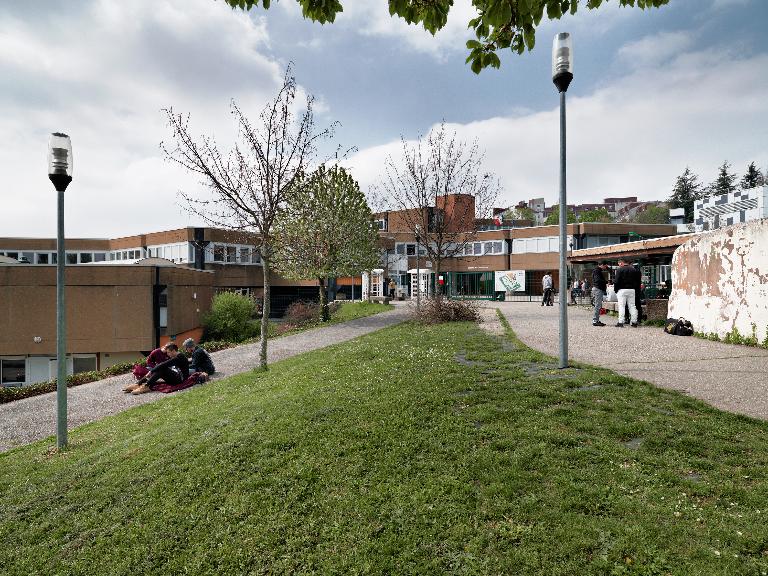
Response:
[{"label": "bright green rounded shrub against the brown building wall", "polygon": [[234,292],[222,292],[213,298],[211,311],[203,320],[205,340],[242,342],[259,336],[259,323],[254,321],[256,303]]}]

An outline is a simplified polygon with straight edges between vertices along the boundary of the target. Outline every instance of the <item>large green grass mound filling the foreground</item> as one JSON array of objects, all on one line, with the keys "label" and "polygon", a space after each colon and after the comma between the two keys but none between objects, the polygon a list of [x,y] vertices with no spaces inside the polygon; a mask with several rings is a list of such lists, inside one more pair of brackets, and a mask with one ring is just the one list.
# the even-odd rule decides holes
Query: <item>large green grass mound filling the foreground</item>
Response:
[{"label": "large green grass mound filling the foreground", "polygon": [[404,324],[0,455],[3,574],[768,573],[768,424]]}]

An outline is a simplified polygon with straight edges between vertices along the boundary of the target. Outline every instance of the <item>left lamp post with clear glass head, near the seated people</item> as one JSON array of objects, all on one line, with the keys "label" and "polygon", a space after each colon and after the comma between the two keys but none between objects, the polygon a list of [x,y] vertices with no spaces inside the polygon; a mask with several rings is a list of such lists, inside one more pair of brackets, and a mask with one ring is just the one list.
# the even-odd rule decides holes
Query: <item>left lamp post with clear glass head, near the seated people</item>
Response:
[{"label": "left lamp post with clear glass head, near the seated people", "polygon": [[67,446],[67,346],[64,315],[64,191],[72,182],[72,142],[69,136],[54,132],[48,141],[48,178],[58,193],[56,236],[56,445]]}]

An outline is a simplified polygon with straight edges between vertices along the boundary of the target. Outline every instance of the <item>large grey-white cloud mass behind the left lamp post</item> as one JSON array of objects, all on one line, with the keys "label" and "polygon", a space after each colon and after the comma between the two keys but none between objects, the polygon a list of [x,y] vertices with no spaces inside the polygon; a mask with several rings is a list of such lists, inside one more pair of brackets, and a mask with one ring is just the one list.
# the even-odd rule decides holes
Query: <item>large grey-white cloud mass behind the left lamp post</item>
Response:
[{"label": "large grey-white cloud mass behind the left lamp post", "polygon": [[[73,142],[67,233],[113,237],[192,223],[177,191],[199,188],[163,161],[161,108],[231,142],[229,101],[256,116],[281,82],[262,20],[210,0],[100,0],[50,21],[0,15],[0,236],[53,236],[50,132]],[[87,33],[84,33],[87,31]]]}]

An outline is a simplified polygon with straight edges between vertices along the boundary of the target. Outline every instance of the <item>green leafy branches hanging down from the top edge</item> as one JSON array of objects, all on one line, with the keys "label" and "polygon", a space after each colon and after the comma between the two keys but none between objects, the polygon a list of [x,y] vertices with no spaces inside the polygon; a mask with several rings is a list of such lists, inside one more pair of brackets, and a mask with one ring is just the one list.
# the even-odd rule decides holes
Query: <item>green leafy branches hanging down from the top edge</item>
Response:
[{"label": "green leafy branches hanging down from the top edge", "polygon": [[[333,22],[336,14],[343,11],[339,0],[296,0],[304,18],[321,24]],[[384,0],[381,0],[382,2]],[[226,0],[233,8],[250,10],[254,6],[269,8],[270,0]],[[608,0],[587,0],[590,10],[599,8]],[[618,0],[619,6],[640,9],[658,8],[669,0]],[[389,0],[389,13],[399,16],[408,24],[421,24],[431,34],[437,33],[448,22],[453,0]],[[467,63],[478,74],[483,68],[499,68],[501,60],[497,52],[510,49],[522,54],[533,50],[536,28],[546,16],[559,20],[565,14],[575,14],[579,0],[472,0],[473,17],[468,28],[475,39],[467,41]]]}]

